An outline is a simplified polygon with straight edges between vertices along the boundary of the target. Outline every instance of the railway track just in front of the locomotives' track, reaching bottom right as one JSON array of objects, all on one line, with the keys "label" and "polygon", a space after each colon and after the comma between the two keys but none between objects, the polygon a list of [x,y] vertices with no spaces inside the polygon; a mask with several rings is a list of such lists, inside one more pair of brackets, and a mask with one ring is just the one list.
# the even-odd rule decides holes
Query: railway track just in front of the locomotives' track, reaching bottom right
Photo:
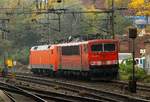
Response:
[{"label": "railway track just in front of the locomotives' track, reaching bottom right", "polygon": [[76,92],[78,94],[84,93],[86,97],[90,97],[98,100],[107,100],[110,102],[149,102],[146,99],[140,99],[136,97],[132,97],[129,95],[118,94],[115,92],[104,91],[100,89],[90,88],[82,85],[76,85],[72,83],[56,81],[56,80],[48,80],[39,77],[29,77],[29,76],[21,76],[17,75],[17,80],[28,81],[36,84],[42,84],[47,86],[57,86],[59,89],[65,89],[69,91]]}]

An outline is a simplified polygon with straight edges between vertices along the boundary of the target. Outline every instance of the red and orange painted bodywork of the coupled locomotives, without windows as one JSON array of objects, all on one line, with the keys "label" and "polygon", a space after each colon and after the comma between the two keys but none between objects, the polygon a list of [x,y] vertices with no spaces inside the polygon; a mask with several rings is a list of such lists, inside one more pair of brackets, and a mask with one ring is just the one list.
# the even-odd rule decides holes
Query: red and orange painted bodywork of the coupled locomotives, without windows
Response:
[{"label": "red and orange painted bodywork of the coupled locomotives, without windows", "polygon": [[[92,52],[91,45],[99,43],[115,43],[116,50],[113,52]],[[62,46],[80,46],[80,55],[65,56],[61,53]],[[30,65],[53,65],[53,71],[58,69],[88,71],[92,61],[118,60],[118,41],[116,40],[90,40],[81,43],[52,45],[45,50],[30,51]],[[61,67],[60,67],[61,66]]]}]

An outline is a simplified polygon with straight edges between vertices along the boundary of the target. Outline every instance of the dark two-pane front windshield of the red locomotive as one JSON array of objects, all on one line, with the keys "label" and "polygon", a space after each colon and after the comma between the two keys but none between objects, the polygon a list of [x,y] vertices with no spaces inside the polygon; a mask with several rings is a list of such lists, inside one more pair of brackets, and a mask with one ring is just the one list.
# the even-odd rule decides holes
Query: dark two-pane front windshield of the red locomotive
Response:
[{"label": "dark two-pane front windshield of the red locomotive", "polygon": [[91,51],[92,52],[111,52],[111,51],[115,51],[115,44],[110,44],[110,43],[106,43],[106,44],[93,44],[91,46]]}]

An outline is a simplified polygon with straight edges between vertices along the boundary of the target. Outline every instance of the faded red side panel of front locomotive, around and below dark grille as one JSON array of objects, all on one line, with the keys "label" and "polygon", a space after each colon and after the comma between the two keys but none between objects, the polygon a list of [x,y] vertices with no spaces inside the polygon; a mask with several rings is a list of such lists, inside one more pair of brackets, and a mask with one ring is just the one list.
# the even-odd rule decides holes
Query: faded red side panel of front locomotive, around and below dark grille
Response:
[{"label": "faded red side panel of front locomotive, around and below dark grille", "polygon": [[[87,45],[87,44],[86,44]],[[59,46],[61,48],[61,46]],[[87,71],[89,70],[88,65],[88,52],[84,51],[83,44],[79,45],[80,55],[61,55],[61,66],[64,70],[80,70]]]}]

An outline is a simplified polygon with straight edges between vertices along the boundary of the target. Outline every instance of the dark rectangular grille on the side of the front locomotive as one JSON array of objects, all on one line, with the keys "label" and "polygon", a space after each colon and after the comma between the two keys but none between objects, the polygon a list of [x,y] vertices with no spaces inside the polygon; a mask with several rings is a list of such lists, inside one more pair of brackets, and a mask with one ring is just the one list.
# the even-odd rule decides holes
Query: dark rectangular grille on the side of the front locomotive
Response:
[{"label": "dark rectangular grille on the side of the front locomotive", "polygon": [[62,55],[80,55],[79,46],[63,46]]}]

